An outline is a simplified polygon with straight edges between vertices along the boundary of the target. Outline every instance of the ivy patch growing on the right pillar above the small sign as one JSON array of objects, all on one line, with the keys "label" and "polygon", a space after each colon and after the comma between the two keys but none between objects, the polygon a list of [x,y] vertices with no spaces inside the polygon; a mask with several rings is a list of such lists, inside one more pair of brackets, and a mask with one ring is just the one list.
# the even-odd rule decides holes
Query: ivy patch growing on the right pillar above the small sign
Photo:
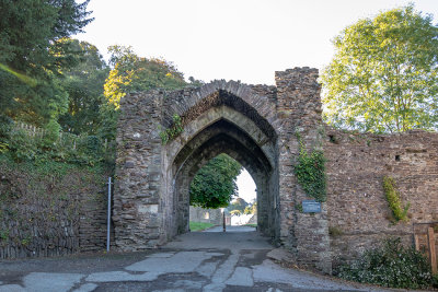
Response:
[{"label": "ivy patch growing on the right pillar above the small sign", "polygon": [[298,163],[293,166],[295,175],[307,195],[323,202],[327,197],[324,153],[321,150],[313,150],[309,154],[299,135],[297,138],[300,144],[300,154]]}]

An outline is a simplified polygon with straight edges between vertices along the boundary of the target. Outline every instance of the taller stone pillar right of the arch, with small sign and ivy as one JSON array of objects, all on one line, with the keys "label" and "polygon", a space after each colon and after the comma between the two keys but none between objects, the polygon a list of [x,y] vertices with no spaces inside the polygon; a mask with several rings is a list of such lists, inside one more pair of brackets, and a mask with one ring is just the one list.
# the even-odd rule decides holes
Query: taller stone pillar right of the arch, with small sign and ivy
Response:
[{"label": "taller stone pillar right of the arch, with small sign and ivy", "polygon": [[308,197],[298,185],[293,164],[299,154],[298,131],[308,151],[322,148],[322,118],[318,69],[295,68],[276,72],[279,125],[280,241],[302,266],[330,273],[327,209],[316,214],[302,213],[298,205]]}]

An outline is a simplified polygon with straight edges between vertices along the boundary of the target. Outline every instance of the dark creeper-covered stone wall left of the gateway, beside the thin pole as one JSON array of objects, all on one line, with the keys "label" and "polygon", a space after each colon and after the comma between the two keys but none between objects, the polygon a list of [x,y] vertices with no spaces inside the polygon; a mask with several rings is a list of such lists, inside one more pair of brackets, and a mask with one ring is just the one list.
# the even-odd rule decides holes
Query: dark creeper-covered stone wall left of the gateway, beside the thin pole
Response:
[{"label": "dark creeper-covered stone wall left of the gateway, beside the thin pole", "polygon": [[104,250],[106,175],[0,162],[0,258]]}]

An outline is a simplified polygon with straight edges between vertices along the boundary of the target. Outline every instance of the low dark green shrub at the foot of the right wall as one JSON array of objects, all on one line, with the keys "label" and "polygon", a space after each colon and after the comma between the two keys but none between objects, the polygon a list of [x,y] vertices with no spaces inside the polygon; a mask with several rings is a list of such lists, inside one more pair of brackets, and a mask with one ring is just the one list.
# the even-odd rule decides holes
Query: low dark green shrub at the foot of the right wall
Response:
[{"label": "low dark green shrub at the foot of the right wall", "polygon": [[427,259],[413,247],[403,247],[400,238],[387,240],[382,247],[367,250],[350,266],[341,267],[338,276],[391,288],[420,289],[431,284]]}]

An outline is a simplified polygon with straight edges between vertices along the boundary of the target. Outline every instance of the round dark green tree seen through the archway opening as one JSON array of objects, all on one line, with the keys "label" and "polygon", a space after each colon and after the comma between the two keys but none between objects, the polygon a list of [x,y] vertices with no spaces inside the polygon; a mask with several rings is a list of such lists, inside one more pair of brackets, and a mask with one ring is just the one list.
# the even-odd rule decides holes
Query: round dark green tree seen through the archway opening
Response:
[{"label": "round dark green tree seen through the archway opening", "polygon": [[224,208],[238,194],[235,178],[242,166],[227,154],[219,154],[204,165],[191,184],[191,205]]}]

